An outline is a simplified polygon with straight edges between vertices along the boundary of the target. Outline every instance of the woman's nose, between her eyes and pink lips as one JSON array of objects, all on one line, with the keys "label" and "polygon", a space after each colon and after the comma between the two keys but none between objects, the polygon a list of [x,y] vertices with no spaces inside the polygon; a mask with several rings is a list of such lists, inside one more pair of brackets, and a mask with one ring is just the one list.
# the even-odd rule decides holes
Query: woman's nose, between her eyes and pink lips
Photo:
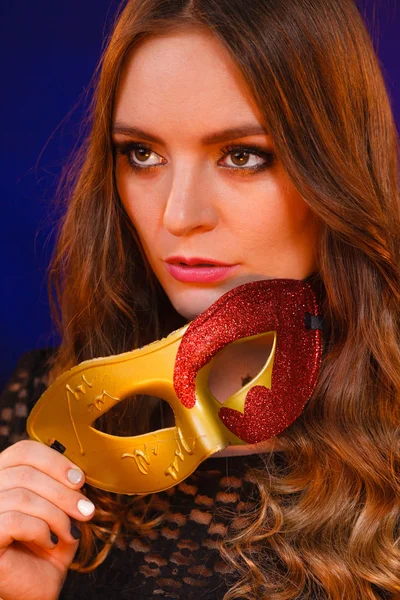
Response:
[{"label": "woman's nose, between her eyes and pink lips", "polygon": [[209,181],[195,165],[176,169],[165,205],[163,225],[175,236],[209,231],[218,222]]}]

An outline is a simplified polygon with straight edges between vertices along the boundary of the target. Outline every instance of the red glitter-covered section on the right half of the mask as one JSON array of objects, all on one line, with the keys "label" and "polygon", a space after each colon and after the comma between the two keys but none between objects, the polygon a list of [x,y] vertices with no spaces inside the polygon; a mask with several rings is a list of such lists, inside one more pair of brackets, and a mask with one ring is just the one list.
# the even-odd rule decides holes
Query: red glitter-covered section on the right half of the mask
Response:
[{"label": "red glitter-covered section on the right half of the mask", "polygon": [[174,388],[184,406],[196,403],[196,376],[232,342],[268,331],[277,332],[272,387],[255,385],[247,393],[244,414],[219,410],[224,425],[241,440],[267,440],[288,427],[303,411],[318,378],[321,332],[307,329],[305,315],[318,315],[308,283],[272,279],[227,292],[189,325],[175,361]]}]

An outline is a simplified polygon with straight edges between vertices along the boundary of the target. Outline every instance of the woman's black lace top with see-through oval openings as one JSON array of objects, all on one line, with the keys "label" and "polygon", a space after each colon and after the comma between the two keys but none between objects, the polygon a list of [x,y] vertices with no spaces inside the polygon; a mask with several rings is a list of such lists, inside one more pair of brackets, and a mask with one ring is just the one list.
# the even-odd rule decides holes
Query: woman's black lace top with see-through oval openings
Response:
[{"label": "woman's black lace top with see-through oval openings", "polygon": [[[0,396],[0,451],[27,438],[26,419],[47,387],[51,352],[24,354]],[[94,572],[69,571],[60,600],[222,600],[236,574],[219,555],[218,541],[232,515],[255,506],[247,471],[259,461],[254,455],[210,458],[181,484],[156,494],[165,520],[146,536],[117,539]],[[377,598],[390,596],[380,592]]]}]

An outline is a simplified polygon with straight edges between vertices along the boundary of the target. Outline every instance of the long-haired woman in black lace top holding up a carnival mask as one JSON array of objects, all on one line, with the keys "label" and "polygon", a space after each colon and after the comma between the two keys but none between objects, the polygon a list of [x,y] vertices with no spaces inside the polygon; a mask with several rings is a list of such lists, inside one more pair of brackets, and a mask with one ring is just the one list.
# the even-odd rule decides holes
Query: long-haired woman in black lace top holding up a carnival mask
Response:
[{"label": "long-haired woman in black lace top holding up a carnival mask", "polygon": [[[50,272],[62,345],[51,365],[21,363],[3,406],[18,388],[29,409],[67,368],[253,279],[312,282],[325,351],[290,427],[166,492],[83,494],[65,456],[6,448],[0,596],[400,597],[398,145],[355,5],[129,1],[91,115]],[[216,366],[221,402],[252,377],[249,356]],[[168,418],[155,399],[121,405],[99,427]]]}]

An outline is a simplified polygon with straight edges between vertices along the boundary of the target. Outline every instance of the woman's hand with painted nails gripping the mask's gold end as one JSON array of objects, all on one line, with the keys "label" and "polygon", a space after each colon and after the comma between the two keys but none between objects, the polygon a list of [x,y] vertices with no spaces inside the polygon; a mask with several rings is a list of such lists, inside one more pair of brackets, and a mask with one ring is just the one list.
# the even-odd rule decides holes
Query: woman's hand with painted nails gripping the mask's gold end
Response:
[{"label": "woman's hand with painted nails gripping the mask's gold end", "polygon": [[0,454],[0,599],[58,598],[79,545],[70,517],[94,514],[79,492],[84,481],[74,463],[39,442]]}]

